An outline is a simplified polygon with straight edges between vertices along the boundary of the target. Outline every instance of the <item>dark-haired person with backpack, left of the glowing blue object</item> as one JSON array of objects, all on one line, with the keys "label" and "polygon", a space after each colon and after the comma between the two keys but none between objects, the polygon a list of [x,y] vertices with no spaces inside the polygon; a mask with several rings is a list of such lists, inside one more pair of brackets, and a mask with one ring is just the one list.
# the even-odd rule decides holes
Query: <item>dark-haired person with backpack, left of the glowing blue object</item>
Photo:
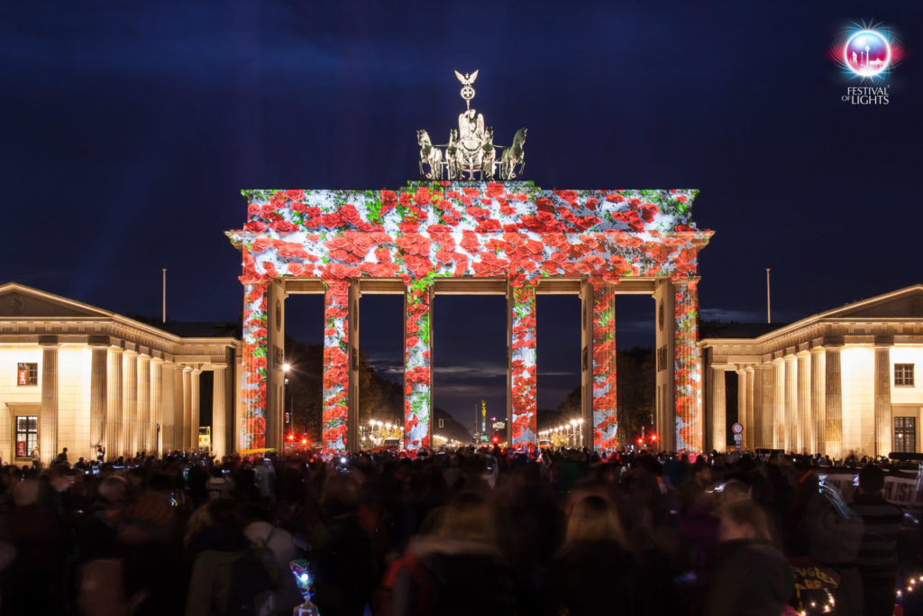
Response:
[{"label": "dark-haired person with backpack, left of the glowing blue object", "polygon": [[209,501],[209,524],[190,541],[198,548],[186,616],[271,614],[275,590],[262,559],[244,536],[230,499]]}]

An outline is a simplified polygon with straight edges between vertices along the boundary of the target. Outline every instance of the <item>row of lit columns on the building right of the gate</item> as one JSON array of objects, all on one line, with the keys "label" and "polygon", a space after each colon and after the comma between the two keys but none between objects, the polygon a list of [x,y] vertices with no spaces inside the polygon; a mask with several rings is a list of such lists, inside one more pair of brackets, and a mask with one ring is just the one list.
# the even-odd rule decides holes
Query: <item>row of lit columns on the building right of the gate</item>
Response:
[{"label": "row of lit columns on the building right of the gate", "polygon": [[[726,438],[725,375],[733,371],[737,421],[744,427],[742,448],[832,457],[850,452],[887,455],[893,445],[893,345],[893,336],[874,336],[848,347],[842,336],[824,337],[775,351],[759,362],[713,363],[708,374],[711,446],[721,450],[732,444]],[[854,349],[864,356],[873,353],[873,383],[866,391],[860,391],[866,375],[852,369],[863,359],[851,356]],[[844,387],[852,390],[846,407]]]}]

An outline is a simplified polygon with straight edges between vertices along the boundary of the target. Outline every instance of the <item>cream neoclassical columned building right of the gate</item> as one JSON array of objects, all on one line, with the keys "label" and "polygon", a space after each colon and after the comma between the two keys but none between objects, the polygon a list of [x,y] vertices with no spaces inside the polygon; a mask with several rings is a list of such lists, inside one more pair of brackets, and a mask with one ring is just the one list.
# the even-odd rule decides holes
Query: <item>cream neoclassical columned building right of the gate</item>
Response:
[{"label": "cream neoclassical columned building right of the gate", "polygon": [[[923,449],[923,284],[772,331],[710,328],[700,341],[709,447],[887,455]],[[736,395],[729,395],[736,391]]]}]

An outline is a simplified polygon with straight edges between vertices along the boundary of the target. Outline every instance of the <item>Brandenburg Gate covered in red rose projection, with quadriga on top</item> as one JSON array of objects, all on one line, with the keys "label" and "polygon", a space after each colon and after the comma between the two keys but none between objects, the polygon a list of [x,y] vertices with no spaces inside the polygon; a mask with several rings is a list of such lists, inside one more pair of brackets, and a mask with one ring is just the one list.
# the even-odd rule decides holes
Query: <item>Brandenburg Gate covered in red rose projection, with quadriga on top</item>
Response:
[{"label": "Brandenburg Gate covered in red rose projection, with quadriga on top", "polygon": [[[583,442],[617,447],[616,296],[653,296],[656,429],[668,450],[701,451],[704,417],[696,262],[711,231],[691,222],[695,190],[545,190],[516,179],[526,131],[506,149],[470,108],[449,143],[417,135],[424,179],[397,190],[245,190],[227,236],[243,255],[238,449],[282,447],[284,304],[324,295],[325,450],[357,449],[360,297],[404,297],[404,446],[430,446],[432,305],[437,294],[507,297],[507,419],[537,444],[535,296],[581,297]],[[624,444],[624,443],[622,443]]]}]

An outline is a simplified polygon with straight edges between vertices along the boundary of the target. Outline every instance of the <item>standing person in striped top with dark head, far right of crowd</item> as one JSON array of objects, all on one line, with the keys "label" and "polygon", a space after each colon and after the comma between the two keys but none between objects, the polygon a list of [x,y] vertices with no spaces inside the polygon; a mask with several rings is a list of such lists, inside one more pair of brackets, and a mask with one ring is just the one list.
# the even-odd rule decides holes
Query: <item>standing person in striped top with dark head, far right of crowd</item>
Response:
[{"label": "standing person in striped top with dark head, far right of crowd", "polygon": [[866,616],[890,616],[894,609],[897,577],[897,534],[904,514],[884,500],[884,471],[867,465],[859,472],[859,488],[850,505],[865,522],[857,566],[862,579]]}]

